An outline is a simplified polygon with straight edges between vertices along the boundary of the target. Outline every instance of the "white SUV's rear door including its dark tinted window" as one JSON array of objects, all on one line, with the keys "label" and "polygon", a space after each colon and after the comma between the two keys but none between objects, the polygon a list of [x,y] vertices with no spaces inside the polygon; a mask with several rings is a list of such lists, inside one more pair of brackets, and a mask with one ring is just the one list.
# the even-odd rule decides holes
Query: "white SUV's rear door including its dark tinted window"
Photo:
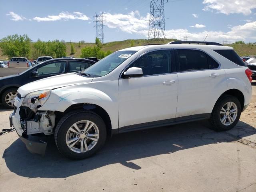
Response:
[{"label": "white SUV's rear door including its dark tinted window", "polygon": [[178,103],[176,118],[209,115],[226,91],[226,74],[220,64],[200,50],[176,49]]}]

